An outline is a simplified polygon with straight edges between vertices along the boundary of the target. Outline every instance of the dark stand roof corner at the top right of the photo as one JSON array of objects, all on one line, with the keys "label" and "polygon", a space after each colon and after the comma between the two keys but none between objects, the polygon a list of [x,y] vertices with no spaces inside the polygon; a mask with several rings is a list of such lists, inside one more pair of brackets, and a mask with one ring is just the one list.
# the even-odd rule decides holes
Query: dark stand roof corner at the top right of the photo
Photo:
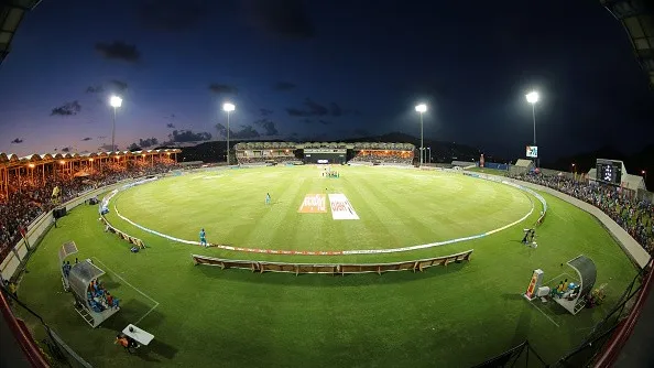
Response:
[{"label": "dark stand roof corner at the top right of the photo", "polygon": [[629,34],[636,59],[654,87],[654,6],[650,0],[600,0]]}]

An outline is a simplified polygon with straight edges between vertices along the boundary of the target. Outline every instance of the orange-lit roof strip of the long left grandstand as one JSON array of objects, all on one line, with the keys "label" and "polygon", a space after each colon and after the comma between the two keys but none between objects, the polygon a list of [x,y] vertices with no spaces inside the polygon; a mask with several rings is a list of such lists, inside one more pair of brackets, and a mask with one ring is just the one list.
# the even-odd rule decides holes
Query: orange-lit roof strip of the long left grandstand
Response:
[{"label": "orange-lit roof strip of the long left grandstand", "polygon": [[46,163],[53,160],[85,160],[92,158],[108,158],[108,156],[135,156],[135,155],[149,155],[149,154],[161,154],[161,153],[181,153],[179,149],[162,149],[162,150],[143,150],[143,151],[116,151],[116,152],[89,152],[89,153],[34,153],[23,158],[19,158],[14,153],[0,152],[0,165],[11,166],[20,165],[25,163]]}]

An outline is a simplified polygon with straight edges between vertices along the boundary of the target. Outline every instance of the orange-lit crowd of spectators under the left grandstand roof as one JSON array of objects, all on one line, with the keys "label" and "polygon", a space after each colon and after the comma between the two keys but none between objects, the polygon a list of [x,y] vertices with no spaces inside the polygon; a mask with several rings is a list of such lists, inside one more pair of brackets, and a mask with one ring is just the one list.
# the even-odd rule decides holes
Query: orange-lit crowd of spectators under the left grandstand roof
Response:
[{"label": "orange-lit crowd of spectators under the left grandstand roof", "polygon": [[[173,160],[154,162],[134,161],[126,167],[124,163],[106,163],[102,170],[79,170],[76,173],[51,173],[35,176],[10,176],[10,192],[0,194],[0,260],[21,239],[21,229],[59,203],[68,202],[85,192],[118,183],[120,181],[155,175],[176,167]],[[53,191],[59,188],[59,196],[53,198]]]}]

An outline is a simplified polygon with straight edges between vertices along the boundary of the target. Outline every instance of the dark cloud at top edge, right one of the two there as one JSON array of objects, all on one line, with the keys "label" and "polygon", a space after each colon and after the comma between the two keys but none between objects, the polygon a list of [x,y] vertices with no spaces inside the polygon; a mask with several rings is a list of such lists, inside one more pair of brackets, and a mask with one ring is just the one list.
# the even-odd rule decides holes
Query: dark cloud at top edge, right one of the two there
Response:
[{"label": "dark cloud at top edge, right one of the two there", "polygon": [[306,40],[316,35],[303,0],[243,1],[250,22],[269,35]]}]

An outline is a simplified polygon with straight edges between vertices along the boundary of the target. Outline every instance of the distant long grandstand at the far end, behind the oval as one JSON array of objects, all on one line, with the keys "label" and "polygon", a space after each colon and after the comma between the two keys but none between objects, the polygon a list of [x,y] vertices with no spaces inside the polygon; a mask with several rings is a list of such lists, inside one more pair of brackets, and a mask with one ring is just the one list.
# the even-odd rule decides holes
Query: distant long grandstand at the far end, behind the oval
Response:
[{"label": "distant long grandstand at the far end, behind the oval", "polygon": [[411,165],[415,147],[386,142],[241,142],[235,145],[239,164],[330,163]]}]

